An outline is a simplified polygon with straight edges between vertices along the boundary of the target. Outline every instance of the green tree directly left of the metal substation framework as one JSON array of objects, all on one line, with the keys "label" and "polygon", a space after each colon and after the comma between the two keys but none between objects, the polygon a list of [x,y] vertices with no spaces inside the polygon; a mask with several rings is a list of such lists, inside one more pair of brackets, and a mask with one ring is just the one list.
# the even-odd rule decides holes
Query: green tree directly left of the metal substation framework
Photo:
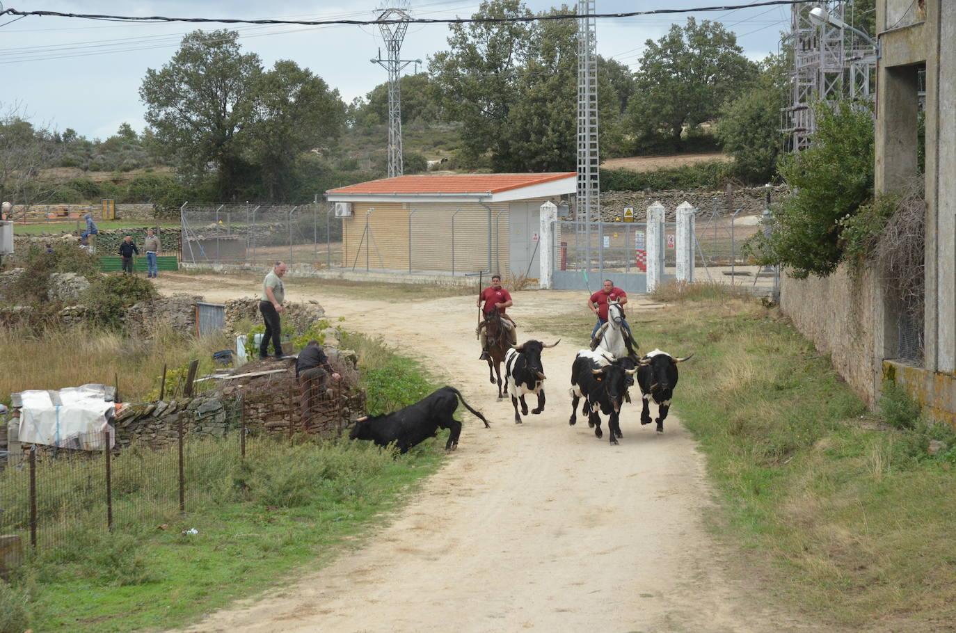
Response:
[{"label": "green tree directly left of the metal substation framework", "polygon": [[785,76],[782,63],[782,55],[767,57],[756,85],[725,104],[717,125],[717,139],[733,157],[734,171],[750,182],[767,182],[776,173],[783,144],[779,129]]}]

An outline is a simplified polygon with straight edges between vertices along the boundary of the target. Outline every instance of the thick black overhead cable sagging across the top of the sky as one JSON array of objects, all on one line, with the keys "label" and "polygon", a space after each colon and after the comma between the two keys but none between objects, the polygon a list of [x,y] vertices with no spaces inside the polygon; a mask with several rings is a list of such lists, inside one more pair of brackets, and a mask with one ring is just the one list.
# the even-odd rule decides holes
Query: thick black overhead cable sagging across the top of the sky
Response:
[{"label": "thick black overhead cable sagging across the top of the sky", "polygon": [[[766,0],[765,2],[752,3],[747,5],[723,5],[717,7],[696,7],[693,9],[653,9],[649,11],[627,11],[620,13],[592,13],[589,15],[580,14],[541,14],[541,15],[515,15],[511,17],[455,17],[455,18],[412,18],[408,20],[410,24],[472,24],[472,23],[497,23],[497,22],[535,22],[546,20],[576,20],[587,17],[593,18],[621,18],[621,17],[639,17],[642,15],[660,15],[670,13],[693,13],[705,11],[736,11],[738,9],[753,9],[758,7],[779,7],[793,6],[799,4],[809,4],[813,0]],[[104,20],[116,22],[189,22],[203,24],[215,22],[219,24],[287,24],[307,27],[320,27],[335,24],[344,25],[381,25],[397,24],[402,20],[394,19],[374,19],[374,20],[351,20],[351,19],[329,19],[329,20],[244,20],[237,18],[221,17],[165,17],[163,15],[135,16],[135,15],[109,15],[100,13],[64,13],[60,11],[17,11],[16,9],[7,9],[0,11],[0,15],[20,15],[20,16],[50,16],[50,17],[74,17],[87,20]]]}]

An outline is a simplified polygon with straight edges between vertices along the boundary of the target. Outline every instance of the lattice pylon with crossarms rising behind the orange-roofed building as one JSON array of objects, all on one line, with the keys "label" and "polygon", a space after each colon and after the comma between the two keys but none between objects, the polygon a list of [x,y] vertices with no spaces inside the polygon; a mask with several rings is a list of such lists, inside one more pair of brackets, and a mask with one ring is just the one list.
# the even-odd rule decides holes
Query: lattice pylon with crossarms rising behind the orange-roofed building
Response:
[{"label": "lattice pylon with crossarms rising behind the orange-roofed building", "polygon": [[388,53],[387,59],[381,58],[381,49],[379,49],[379,58],[373,59],[373,64],[379,64],[388,71],[388,177],[394,178],[401,176],[404,172],[404,163],[402,160],[402,77],[400,73],[408,64],[421,64],[421,59],[402,59],[402,41],[405,38],[405,32],[408,31],[408,20],[411,16],[408,14],[407,0],[392,0],[389,3],[392,6],[386,6],[379,11],[379,20],[398,20],[392,24],[380,24],[381,39],[385,43],[385,51]]}]

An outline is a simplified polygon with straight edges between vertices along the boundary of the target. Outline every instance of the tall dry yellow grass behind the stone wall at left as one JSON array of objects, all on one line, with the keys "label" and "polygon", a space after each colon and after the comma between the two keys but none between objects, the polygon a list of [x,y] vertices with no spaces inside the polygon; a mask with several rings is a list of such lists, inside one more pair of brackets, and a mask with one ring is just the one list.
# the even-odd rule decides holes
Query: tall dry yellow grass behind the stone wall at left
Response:
[{"label": "tall dry yellow grass behind the stone wall at left", "polygon": [[[135,402],[159,387],[163,363],[169,370],[200,359],[201,371],[211,365],[211,354],[226,349],[218,338],[179,335],[161,330],[151,339],[134,339],[118,332],[89,327],[51,328],[39,336],[25,330],[0,332],[0,397],[26,389],[60,389],[88,382],[114,384],[120,398]],[[174,386],[174,385],[173,385]]]}]

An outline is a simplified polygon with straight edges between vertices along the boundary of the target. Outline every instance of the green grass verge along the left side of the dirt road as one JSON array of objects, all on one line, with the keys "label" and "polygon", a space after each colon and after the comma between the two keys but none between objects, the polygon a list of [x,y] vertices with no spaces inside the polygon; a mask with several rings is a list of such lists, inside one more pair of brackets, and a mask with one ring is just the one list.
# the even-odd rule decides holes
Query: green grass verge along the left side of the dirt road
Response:
[{"label": "green grass verge along the left side of the dirt road", "polygon": [[[363,376],[373,377],[366,379],[370,403],[409,404],[434,388],[416,363],[395,357],[379,341],[347,339],[359,352]],[[129,631],[195,621],[358,546],[444,455],[443,439],[401,456],[371,443],[261,440],[255,456],[242,462],[235,447],[225,446],[229,442],[236,440],[190,445],[185,515],[150,519],[118,509],[118,516],[135,518],[122,520],[112,535],[101,518],[81,516],[68,547],[28,557],[11,584],[0,582],[6,618],[0,618],[0,633],[26,626],[37,632]],[[120,476],[124,460],[166,458],[162,451],[137,452],[124,451],[115,462],[115,490],[128,489],[120,503],[157,494],[143,488],[148,482]],[[80,479],[77,486],[89,485]],[[163,523],[166,529],[157,529]],[[198,534],[183,534],[193,528]]]}]

